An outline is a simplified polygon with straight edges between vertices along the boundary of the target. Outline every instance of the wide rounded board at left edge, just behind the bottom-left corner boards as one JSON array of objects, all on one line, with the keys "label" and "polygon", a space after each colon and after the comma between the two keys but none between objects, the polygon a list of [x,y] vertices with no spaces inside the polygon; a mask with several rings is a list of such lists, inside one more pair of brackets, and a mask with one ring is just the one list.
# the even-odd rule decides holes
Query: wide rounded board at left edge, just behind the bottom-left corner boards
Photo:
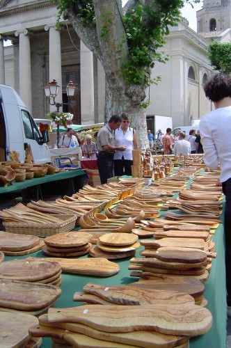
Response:
[{"label": "wide rounded board at left edge, just behind the bottom-left corner boards", "polygon": [[47,284],[0,279],[0,306],[18,310],[39,310],[58,299],[61,290]]}]

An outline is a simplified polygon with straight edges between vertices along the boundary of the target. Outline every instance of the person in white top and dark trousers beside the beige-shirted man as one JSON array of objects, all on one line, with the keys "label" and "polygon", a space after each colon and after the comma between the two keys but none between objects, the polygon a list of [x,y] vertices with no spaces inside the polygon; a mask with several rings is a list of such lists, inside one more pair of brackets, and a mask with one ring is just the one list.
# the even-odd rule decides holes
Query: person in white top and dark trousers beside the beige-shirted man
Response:
[{"label": "person in white top and dark trousers beside the beige-shirted man", "polygon": [[114,155],[114,172],[116,176],[132,175],[132,150],[138,150],[136,131],[129,127],[130,121],[126,113],[122,113],[121,118],[120,127],[115,130],[115,145],[124,145],[126,150],[116,150]]}]

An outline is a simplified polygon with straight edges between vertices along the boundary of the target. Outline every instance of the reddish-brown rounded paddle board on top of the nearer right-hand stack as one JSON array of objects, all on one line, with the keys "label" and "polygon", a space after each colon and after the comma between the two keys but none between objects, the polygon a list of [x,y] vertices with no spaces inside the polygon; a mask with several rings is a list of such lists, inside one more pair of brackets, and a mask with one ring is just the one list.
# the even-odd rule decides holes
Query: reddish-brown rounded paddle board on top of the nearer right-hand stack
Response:
[{"label": "reddish-brown rounded paddle board on top of the nearer right-hand stack", "polygon": [[207,253],[205,251],[200,251],[198,249],[187,250],[188,248],[184,248],[184,250],[179,249],[164,249],[159,248],[156,250],[144,250],[140,252],[141,256],[145,256],[147,258],[158,258],[161,261],[165,262],[183,262],[189,264],[196,264],[198,262],[204,262],[207,260]]}]

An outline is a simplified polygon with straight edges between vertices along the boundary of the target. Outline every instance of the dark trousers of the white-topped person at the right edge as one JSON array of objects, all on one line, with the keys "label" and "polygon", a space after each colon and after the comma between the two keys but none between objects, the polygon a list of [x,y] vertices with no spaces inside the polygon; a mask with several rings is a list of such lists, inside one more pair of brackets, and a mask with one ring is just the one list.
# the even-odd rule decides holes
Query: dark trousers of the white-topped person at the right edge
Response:
[{"label": "dark trousers of the white-topped person at the right edge", "polygon": [[231,306],[231,177],[222,183],[223,193],[225,194],[225,273],[227,303]]}]

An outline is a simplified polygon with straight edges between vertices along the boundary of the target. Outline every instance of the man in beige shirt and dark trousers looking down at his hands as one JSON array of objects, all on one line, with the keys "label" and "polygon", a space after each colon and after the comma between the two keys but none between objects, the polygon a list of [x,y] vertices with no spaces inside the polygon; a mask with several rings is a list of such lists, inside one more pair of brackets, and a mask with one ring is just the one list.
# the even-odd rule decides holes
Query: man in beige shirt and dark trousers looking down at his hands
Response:
[{"label": "man in beige shirt and dark trousers looking down at his hands", "polygon": [[121,121],[120,116],[111,116],[109,122],[97,134],[97,166],[101,184],[106,184],[107,180],[114,176],[113,157],[116,150],[126,150],[125,145],[115,145],[114,131],[120,127]]}]

